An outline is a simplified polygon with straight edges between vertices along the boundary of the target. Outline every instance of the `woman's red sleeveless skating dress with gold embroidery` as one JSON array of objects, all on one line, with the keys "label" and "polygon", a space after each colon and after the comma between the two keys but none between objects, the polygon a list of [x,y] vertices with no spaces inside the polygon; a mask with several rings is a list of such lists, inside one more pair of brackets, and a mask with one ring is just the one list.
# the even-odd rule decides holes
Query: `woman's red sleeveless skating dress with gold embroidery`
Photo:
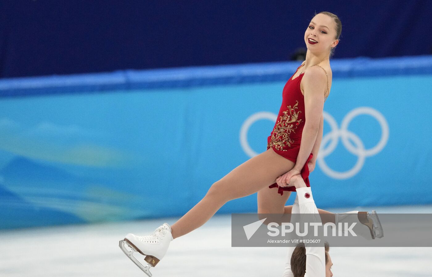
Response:
[{"label": "woman's red sleeveless skating dress with gold embroidery", "polygon": [[[267,150],[270,147],[273,148],[273,151],[292,161],[294,164],[299,154],[303,127],[305,126],[305,98],[300,90],[300,82],[302,81],[304,72],[292,80],[292,77],[301,66],[303,66],[303,64],[297,68],[283,87],[282,106],[277,115],[273,131],[267,137]],[[325,72],[324,68],[323,70]],[[312,156],[312,153],[309,154],[308,160],[301,171],[302,178],[305,180],[306,186],[308,187],[310,186],[308,162],[312,159]],[[269,188],[278,188],[278,193],[280,193],[280,195],[283,195],[283,191],[295,192],[294,186],[280,187],[277,183],[270,185]]]}]

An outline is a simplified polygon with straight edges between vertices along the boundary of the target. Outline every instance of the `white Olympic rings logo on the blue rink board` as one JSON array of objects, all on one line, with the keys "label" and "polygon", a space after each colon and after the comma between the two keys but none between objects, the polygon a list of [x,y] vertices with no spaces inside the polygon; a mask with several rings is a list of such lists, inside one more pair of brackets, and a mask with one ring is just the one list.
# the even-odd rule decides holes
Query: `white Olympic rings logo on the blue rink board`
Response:
[{"label": "white Olympic rings logo on the blue rink board", "polygon": [[[365,149],[365,145],[358,135],[348,130],[349,123],[356,116],[359,115],[369,115],[375,118],[381,126],[381,138],[377,145],[370,149]],[[365,164],[366,157],[371,157],[377,153],[379,153],[385,145],[387,145],[388,137],[389,137],[389,127],[387,120],[385,120],[384,116],[378,111],[371,107],[358,107],[356,109],[351,110],[342,120],[342,124],[340,128],[337,125],[336,120],[329,113],[323,111],[324,121],[329,123],[331,131],[327,134],[323,135],[321,141],[321,148],[317,157],[317,164],[321,168],[321,170],[334,179],[348,179],[355,176],[362,169]],[[254,157],[258,153],[252,150],[248,143],[248,130],[252,124],[254,124],[258,120],[271,120],[272,122],[276,122],[277,115],[269,112],[259,112],[254,113],[249,116],[240,129],[240,144],[246,154],[249,157]],[[337,147],[339,138],[341,139],[343,145],[346,150],[348,150],[351,154],[357,156],[357,162],[353,168],[347,170],[345,172],[340,172],[331,169],[327,163],[324,161],[324,158],[330,155],[334,149]],[[350,140],[354,143],[354,145],[350,142]],[[324,148],[324,145],[327,145],[327,142],[330,141],[330,144],[327,148]]]}]

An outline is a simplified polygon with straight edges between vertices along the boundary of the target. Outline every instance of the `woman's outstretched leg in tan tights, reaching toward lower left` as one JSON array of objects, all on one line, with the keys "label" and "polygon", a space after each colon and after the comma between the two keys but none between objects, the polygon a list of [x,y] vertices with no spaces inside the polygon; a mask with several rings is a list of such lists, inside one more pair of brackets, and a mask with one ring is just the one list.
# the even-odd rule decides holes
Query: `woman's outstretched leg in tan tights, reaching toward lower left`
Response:
[{"label": "woman's outstretched leg in tan tights, reaching toward lower left", "polygon": [[175,239],[197,229],[226,202],[270,186],[278,176],[291,170],[293,165],[292,161],[276,154],[272,148],[245,161],[213,183],[204,198],[172,224],[172,237]]}]

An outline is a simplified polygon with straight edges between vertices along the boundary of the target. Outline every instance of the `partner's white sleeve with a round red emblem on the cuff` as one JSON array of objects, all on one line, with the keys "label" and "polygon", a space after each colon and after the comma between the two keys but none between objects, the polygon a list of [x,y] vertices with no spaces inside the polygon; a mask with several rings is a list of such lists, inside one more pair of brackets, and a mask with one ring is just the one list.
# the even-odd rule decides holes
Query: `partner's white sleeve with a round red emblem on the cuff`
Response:
[{"label": "partner's white sleeve with a round red emblem on the cuff", "polygon": [[[296,189],[299,198],[300,214],[317,214],[316,221],[321,222],[321,217],[315,205],[310,187]],[[305,277],[325,277],[325,250],[324,242],[322,247],[308,246],[306,248],[306,273]]]}]

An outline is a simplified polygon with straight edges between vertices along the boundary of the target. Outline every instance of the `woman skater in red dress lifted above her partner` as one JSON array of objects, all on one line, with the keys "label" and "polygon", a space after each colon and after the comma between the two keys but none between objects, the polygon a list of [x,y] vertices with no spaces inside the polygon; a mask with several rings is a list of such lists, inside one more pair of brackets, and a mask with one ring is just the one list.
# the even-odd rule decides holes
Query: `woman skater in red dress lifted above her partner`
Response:
[{"label": "woman skater in red dress lifted above her partner", "polygon": [[[259,214],[283,214],[290,192],[295,191],[287,187],[291,177],[300,174],[309,186],[309,171],[321,143],[324,101],[331,87],[330,54],[339,43],[341,30],[340,19],[328,12],[316,14],[308,24],[304,36],[306,60],[283,88],[282,106],[267,138],[267,151],[213,183],[204,198],[172,226],[164,223],[150,236],[127,234],[120,242],[122,250],[146,274],[151,276],[148,265],[142,266],[134,259],[130,254],[133,251],[146,255],[145,261],[154,267],[164,257],[170,241],[206,223],[226,202],[258,192]],[[278,190],[269,189],[269,185]]]}]

